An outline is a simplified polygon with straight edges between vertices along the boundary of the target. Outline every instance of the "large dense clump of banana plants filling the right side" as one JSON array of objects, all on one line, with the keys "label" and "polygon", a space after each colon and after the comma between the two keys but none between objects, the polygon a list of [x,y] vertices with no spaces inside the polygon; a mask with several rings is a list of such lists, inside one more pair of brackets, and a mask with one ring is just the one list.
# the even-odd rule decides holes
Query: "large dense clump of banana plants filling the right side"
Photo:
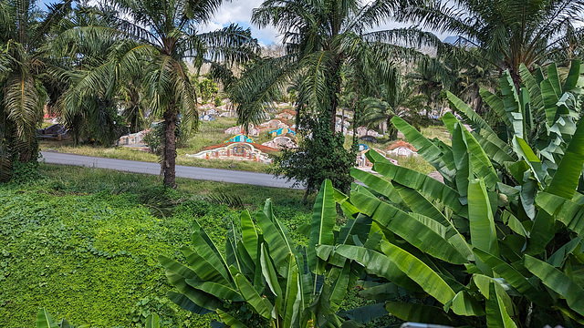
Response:
[{"label": "large dense clump of banana plants filling the right side", "polygon": [[[554,88],[558,77],[550,70],[540,81]],[[387,292],[385,307],[402,320],[475,327],[584,324],[584,195],[578,189],[584,123],[574,115],[581,108],[582,82],[573,63],[561,90],[575,99],[568,105],[575,126],[569,133],[549,134],[561,149],[551,157],[555,169],[532,146],[533,130],[527,128],[533,125],[508,125],[513,135],[506,141],[452,96],[452,105],[460,112],[464,108],[475,127],[469,131],[454,115],[444,115],[452,145],[429,140],[392,118],[444,182],[370,151],[376,173],[352,170],[361,184],[337,198],[353,217],[372,220],[369,245],[322,244],[316,247],[318,256],[330,263],[357,261],[384,280],[382,289],[366,286],[364,293],[375,293],[367,288],[393,291]],[[522,110],[537,108],[540,100],[513,92],[503,92],[503,108],[516,106],[505,114],[511,123],[521,117],[523,124],[529,115]],[[550,118],[549,131],[567,112],[559,99],[557,104],[553,119],[545,105],[534,111]],[[407,302],[400,297],[403,291],[418,301]]]}]

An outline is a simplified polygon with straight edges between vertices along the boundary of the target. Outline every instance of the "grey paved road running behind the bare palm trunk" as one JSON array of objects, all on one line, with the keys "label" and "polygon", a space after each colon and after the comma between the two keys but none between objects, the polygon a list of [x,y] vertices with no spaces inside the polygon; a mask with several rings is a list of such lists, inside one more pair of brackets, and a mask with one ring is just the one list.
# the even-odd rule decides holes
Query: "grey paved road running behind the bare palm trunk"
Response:
[{"label": "grey paved road running behind the bare palm trunk", "polygon": [[[50,151],[42,151],[41,154],[43,155],[43,159],[50,164],[76,165],[99,169],[116,169],[132,173],[145,173],[152,175],[159,175],[161,172],[161,166],[158,163],[125,159],[104,159]],[[224,181],[264,187],[292,188],[292,182],[287,182],[286,179],[276,178],[270,174],[231,169],[206,169],[177,165],[176,177]]]}]

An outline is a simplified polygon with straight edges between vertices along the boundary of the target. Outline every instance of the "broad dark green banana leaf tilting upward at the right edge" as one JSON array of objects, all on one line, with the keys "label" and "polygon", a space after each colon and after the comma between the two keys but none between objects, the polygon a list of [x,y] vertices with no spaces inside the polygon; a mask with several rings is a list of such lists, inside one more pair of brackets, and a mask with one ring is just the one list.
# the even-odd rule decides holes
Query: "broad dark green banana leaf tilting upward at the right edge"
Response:
[{"label": "broad dark green banana leaf tilting upward at the right edge", "polygon": [[579,178],[584,167],[584,123],[579,120],[576,133],[566,149],[566,154],[559,163],[547,192],[571,200],[578,188]]}]

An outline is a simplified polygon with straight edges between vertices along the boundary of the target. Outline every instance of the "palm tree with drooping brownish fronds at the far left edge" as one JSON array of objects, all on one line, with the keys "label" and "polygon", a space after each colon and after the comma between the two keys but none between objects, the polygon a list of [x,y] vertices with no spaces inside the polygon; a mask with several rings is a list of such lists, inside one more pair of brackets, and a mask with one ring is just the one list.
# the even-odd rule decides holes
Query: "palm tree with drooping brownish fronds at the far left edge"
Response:
[{"label": "palm tree with drooping brownish fronds at the far left edge", "polygon": [[36,126],[47,101],[44,86],[51,58],[47,40],[66,2],[47,14],[31,0],[0,0],[0,179],[11,160],[36,160]]}]

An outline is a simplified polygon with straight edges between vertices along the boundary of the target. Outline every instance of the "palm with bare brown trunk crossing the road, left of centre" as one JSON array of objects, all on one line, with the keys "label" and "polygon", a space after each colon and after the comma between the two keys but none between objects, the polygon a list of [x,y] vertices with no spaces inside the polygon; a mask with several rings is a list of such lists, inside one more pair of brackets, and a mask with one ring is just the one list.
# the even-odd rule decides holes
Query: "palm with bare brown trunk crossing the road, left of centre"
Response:
[{"label": "palm with bare brown trunk crossing the road, left of centre", "polygon": [[[258,50],[249,29],[227,26],[198,33],[207,23],[221,0],[112,0],[106,5],[115,15],[109,26],[78,26],[62,36],[62,40],[112,42],[103,63],[83,72],[63,100],[68,110],[83,107],[84,99],[96,89],[104,97],[123,77],[141,77],[151,117],[163,118],[162,149],[163,183],[175,188],[176,140],[174,130],[181,116],[182,127],[196,128],[195,88],[187,72],[187,62],[195,67],[221,61],[223,67],[245,61]],[[215,65],[214,67],[221,67]]]}]

